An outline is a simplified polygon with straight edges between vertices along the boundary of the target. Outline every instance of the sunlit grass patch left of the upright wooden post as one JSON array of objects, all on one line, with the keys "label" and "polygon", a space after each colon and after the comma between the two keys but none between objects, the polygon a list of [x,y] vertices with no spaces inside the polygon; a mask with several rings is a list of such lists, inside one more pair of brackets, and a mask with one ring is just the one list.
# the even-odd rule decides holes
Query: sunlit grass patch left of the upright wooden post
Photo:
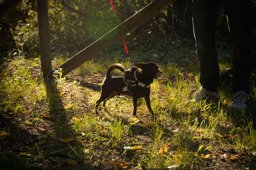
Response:
[{"label": "sunlit grass patch left of the upright wooden post", "polygon": [[[6,61],[7,62],[7,61]],[[14,113],[21,111],[24,103],[35,106],[37,101],[46,99],[43,79],[33,76],[31,69],[39,66],[38,59],[26,60],[22,57],[10,60],[2,73],[0,94],[2,110]]]}]

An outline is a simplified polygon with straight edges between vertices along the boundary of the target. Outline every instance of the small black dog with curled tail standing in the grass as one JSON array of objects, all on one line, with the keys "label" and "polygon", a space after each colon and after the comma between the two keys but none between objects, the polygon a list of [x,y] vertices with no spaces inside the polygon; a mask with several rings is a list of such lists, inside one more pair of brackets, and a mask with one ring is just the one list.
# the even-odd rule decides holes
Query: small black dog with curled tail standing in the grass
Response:
[{"label": "small black dog with curled tail standing in the grass", "polygon": [[[150,106],[150,84],[153,83],[154,78],[161,76],[162,72],[159,71],[158,66],[154,62],[147,63],[135,63],[136,67],[141,70],[133,67],[133,71],[125,71],[122,64],[113,64],[108,68],[106,73],[106,79],[101,87],[101,96],[100,99],[96,102],[95,113],[98,114],[99,104],[103,102],[103,107],[105,108],[106,99],[110,99],[114,96],[125,94],[132,97],[133,101],[133,115],[136,116],[137,110],[137,101],[139,98],[144,97],[147,103],[148,110],[152,115],[154,111]],[[129,74],[134,74],[134,78],[125,78],[125,76],[111,76],[111,71],[113,69],[119,69],[120,71]]]}]

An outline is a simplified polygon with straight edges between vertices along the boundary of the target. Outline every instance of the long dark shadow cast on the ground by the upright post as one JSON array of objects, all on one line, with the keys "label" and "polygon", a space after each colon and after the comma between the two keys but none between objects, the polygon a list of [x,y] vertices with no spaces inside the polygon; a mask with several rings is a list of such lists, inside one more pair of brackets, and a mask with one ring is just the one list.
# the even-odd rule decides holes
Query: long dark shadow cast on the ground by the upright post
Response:
[{"label": "long dark shadow cast on the ground by the upright post", "polygon": [[[57,80],[51,77],[44,80],[44,83],[54,131],[48,135],[48,140],[51,141],[51,143],[45,143],[40,149],[42,149],[47,159],[52,160],[52,165],[49,164],[49,166],[51,166],[51,168],[67,168],[67,162],[65,161],[72,159],[78,162],[72,165],[72,168],[92,169],[93,167],[90,166],[90,164],[83,164],[83,145],[77,143],[77,134],[74,129],[72,129],[72,124],[70,124],[70,115],[68,115],[68,111],[63,104],[60,90],[58,90]],[[73,138],[74,140],[66,143],[60,142],[60,139],[67,138]]]}]

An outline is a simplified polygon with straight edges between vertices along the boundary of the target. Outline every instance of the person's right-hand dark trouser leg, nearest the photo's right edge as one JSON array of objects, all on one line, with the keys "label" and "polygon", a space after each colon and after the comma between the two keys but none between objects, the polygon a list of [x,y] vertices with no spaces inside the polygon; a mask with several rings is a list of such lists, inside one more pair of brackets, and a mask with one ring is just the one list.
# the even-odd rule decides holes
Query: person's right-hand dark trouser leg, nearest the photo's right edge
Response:
[{"label": "person's right-hand dark trouser leg, nearest the photo's right edge", "polygon": [[228,28],[233,41],[233,91],[250,94],[252,70],[252,6],[250,0],[224,1]]}]

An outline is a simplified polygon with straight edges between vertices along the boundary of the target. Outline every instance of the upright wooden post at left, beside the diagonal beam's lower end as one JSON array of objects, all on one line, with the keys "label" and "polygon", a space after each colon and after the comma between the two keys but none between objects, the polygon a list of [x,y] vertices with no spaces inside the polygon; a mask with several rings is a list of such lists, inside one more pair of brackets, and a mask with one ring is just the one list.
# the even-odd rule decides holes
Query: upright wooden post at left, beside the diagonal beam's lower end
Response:
[{"label": "upright wooden post at left, beside the diagonal beam's lower end", "polygon": [[47,2],[47,0],[36,0],[41,70],[44,77],[52,71]]}]

